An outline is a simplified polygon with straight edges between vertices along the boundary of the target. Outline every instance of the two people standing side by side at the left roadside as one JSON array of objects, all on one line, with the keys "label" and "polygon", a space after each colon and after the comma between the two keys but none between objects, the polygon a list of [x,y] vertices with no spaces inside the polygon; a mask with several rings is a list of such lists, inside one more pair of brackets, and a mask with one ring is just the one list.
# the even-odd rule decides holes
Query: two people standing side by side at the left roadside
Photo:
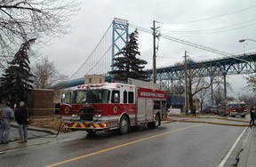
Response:
[{"label": "two people standing side by side at the left roadside", "polygon": [[28,107],[25,107],[25,103],[20,101],[19,109],[13,112],[11,103],[7,102],[6,107],[0,109],[0,144],[8,144],[10,142],[9,133],[11,130],[11,121],[13,119],[19,125],[19,143],[27,142],[28,139]]}]

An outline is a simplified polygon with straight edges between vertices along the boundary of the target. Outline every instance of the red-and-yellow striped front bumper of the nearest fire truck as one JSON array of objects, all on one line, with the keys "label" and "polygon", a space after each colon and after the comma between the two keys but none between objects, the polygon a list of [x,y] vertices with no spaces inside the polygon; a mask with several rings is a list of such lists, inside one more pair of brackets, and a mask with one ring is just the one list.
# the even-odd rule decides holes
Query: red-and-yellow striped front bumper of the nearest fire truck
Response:
[{"label": "red-and-yellow striped front bumper of the nearest fire truck", "polygon": [[63,127],[77,130],[105,130],[108,129],[108,123],[64,122]]}]

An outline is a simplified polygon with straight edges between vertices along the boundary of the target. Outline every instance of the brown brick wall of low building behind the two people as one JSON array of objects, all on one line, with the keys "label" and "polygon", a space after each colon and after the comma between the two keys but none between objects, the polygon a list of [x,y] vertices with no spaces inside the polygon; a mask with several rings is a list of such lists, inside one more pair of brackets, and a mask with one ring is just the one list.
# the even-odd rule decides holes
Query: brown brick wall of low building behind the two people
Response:
[{"label": "brown brick wall of low building behind the two people", "polygon": [[30,115],[52,115],[54,114],[53,90],[36,89],[30,93],[28,109]]}]

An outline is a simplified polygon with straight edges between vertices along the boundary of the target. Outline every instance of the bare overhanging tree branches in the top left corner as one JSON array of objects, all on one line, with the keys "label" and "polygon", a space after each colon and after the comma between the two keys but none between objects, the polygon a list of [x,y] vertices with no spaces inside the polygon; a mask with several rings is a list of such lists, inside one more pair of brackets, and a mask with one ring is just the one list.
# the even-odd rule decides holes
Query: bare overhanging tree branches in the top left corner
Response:
[{"label": "bare overhanging tree branches in the top left corner", "polygon": [[75,0],[1,0],[0,68],[12,59],[19,44],[36,38],[47,43],[52,37],[69,32],[68,20],[79,3]]}]

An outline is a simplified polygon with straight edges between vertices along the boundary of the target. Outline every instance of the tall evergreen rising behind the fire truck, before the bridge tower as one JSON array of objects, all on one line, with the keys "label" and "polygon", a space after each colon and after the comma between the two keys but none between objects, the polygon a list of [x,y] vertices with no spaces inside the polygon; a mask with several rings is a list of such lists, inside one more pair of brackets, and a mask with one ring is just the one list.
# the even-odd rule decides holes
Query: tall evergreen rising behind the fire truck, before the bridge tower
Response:
[{"label": "tall evergreen rising behind the fire truck, before the bridge tower", "polygon": [[112,67],[115,67],[116,69],[109,72],[110,75],[113,75],[113,79],[124,82],[127,82],[128,78],[148,81],[148,74],[143,71],[143,68],[145,68],[145,65],[148,64],[148,62],[137,58],[137,55],[140,56],[137,38],[138,31],[136,29],[129,35],[128,44],[121,50],[121,52],[116,53],[116,58],[112,65]]}]

